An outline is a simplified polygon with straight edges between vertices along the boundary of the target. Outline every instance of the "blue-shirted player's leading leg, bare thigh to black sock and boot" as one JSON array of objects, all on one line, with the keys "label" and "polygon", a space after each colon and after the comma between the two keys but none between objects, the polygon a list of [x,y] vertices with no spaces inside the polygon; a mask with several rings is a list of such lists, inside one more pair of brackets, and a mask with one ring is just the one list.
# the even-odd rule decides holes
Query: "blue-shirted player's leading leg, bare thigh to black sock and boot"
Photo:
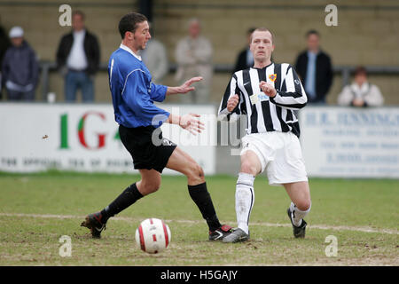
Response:
[{"label": "blue-shirted player's leading leg, bare thigh to black sock and boot", "polygon": [[187,177],[187,186],[192,201],[197,204],[202,217],[207,221],[209,240],[222,241],[224,236],[231,233],[231,226],[221,225],[216,216],[214,204],[210,194],[207,192],[204,170],[202,170],[200,165],[195,162],[189,154],[185,153],[178,146],[169,157],[167,168],[181,172]]}]

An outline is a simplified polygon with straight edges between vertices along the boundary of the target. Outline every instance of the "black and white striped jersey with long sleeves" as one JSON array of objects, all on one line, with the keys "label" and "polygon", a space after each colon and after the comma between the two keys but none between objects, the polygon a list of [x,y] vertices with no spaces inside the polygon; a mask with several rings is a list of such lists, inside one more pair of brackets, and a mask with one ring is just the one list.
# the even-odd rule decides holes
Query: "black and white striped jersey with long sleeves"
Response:
[{"label": "black and white striped jersey with long sleeves", "polygon": [[[261,91],[261,81],[274,85],[277,95],[270,98]],[[230,113],[227,100],[239,95],[239,104]],[[246,133],[268,131],[292,131],[300,136],[297,110],[306,106],[308,99],[301,80],[293,67],[287,63],[271,63],[267,67],[240,70],[234,73],[227,85],[219,106],[218,118],[236,120],[240,114],[247,115]]]}]

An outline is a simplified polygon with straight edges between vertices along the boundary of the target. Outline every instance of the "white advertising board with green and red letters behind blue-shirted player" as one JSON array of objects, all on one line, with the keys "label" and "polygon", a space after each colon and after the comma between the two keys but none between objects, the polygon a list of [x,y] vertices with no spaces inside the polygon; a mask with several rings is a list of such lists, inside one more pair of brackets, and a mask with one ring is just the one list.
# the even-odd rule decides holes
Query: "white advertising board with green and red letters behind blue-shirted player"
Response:
[{"label": "white advertising board with green and red letters behind blue-shirted player", "polygon": [[[161,128],[163,137],[190,154],[206,174],[214,174],[215,107],[161,107],[176,114],[201,114],[206,130],[197,136],[176,125],[164,123]],[[3,103],[0,135],[1,171],[137,172],[121,144],[112,105]]]}]

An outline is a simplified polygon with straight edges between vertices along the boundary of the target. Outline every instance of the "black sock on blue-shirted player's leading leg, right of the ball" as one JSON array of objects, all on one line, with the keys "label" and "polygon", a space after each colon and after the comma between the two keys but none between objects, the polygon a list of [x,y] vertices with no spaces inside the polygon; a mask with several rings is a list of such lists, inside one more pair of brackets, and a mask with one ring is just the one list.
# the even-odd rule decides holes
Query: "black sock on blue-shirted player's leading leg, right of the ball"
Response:
[{"label": "black sock on blue-shirted player's leading leg, right of the ball", "polygon": [[192,201],[197,204],[202,217],[204,217],[204,219],[207,221],[209,231],[215,231],[216,229],[220,228],[222,225],[216,216],[214,204],[212,203],[210,194],[207,192],[207,183],[200,185],[188,185],[188,189],[190,196],[192,197]]}]

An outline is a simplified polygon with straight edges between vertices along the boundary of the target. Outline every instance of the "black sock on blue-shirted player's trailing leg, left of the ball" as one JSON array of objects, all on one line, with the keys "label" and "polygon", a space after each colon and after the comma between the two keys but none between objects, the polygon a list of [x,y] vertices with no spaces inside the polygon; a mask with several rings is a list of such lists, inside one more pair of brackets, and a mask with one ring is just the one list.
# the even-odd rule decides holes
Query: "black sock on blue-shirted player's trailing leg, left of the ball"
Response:
[{"label": "black sock on blue-shirted player's trailing leg, left of the ball", "polygon": [[112,201],[105,209],[101,210],[101,222],[105,224],[110,217],[127,209],[131,204],[142,197],[143,195],[138,191],[136,183],[129,185],[121,195]]}]

